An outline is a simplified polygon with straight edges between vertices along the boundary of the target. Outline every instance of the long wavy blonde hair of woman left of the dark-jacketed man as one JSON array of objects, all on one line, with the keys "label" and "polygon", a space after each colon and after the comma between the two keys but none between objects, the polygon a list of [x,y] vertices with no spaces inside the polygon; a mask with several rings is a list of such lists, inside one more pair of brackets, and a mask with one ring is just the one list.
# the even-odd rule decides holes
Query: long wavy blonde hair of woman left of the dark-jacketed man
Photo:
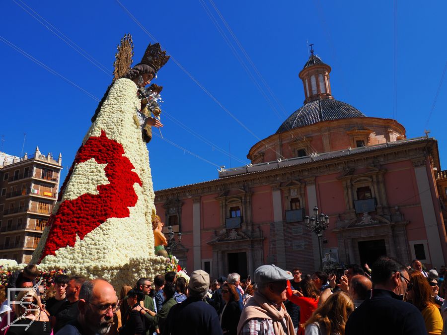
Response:
[{"label": "long wavy blonde hair of woman left of the dark-jacketed man", "polygon": [[327,335],[344,335],[346,321],[354,308],[354,302],[345,292],[331,294],[307,320],[304,328],[316,322],[324,325]]}]

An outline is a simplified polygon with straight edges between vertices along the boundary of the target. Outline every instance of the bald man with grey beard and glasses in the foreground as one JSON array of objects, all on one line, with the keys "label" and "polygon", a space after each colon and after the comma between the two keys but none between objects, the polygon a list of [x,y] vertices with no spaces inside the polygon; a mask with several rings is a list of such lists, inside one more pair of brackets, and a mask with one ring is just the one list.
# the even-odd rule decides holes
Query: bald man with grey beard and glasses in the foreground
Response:
[{"label": "bald man with grey beard and glasses in the foreground", "polygon": [[86,281],[79,292],[78,309],[77,320],[64,326],[57,334],[107,334],[119,309],[115,289],[104,279]]}]

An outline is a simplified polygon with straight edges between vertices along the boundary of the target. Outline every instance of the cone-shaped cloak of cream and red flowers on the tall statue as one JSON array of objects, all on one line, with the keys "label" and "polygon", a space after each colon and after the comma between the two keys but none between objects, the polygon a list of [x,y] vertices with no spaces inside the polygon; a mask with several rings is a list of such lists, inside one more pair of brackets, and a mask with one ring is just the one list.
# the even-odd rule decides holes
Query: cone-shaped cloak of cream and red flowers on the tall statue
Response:
[{"label": "cone-shaped cloak of cream and red flowers on the tall statue", "polygon": [[154,256],[149,152],[137,85],[115,81],[76,153],[31,263],[101,276],[119,287],[163,273]]}]

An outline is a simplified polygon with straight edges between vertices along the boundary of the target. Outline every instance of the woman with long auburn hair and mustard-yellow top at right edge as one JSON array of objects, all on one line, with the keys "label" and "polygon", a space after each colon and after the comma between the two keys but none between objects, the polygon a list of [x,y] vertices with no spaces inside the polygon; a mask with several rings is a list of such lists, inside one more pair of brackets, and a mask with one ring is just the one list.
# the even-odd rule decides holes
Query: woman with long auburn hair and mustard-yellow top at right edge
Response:
[{"label": "woman with long auburn hair and mustard-yellow top at right edge", "polygon": [[407,299],[415,305],[422,313],[425,328],[428,334],[442,334],[443,318],[438,307],[433,302],[432,288],[427,278],[419,271],[409,273],[410,283],[407,291]]}]

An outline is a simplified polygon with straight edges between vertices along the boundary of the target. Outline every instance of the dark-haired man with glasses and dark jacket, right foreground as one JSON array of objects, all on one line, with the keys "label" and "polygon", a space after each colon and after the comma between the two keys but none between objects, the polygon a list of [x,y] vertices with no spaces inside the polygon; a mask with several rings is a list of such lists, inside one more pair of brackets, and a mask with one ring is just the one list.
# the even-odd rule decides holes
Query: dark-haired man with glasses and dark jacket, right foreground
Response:
[{"label": "dark-haired man with glasses and dark jacket, right foreground", "polygon": [[421,312],[403,301],[412,286],[406,267],[382,256],[372,267],[373,289],[346,323],[345,335],[427,334]]}]

